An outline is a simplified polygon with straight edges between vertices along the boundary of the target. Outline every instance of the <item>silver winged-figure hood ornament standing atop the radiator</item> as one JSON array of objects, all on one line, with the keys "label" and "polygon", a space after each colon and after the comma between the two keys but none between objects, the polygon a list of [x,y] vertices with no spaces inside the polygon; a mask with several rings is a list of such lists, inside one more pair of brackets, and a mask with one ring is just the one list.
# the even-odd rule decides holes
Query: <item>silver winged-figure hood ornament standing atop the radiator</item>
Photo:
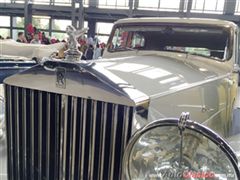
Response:
[{"label": "silver winged-figure hood ornament standing atop the radiator", "polygon": [[66,33],[69,36],[68,50],[64,52],[67,61],[79,61],[82,53],[78,50],[77,38],[82,36],[88,28],[76,29],[73,26],[67,26]]}]

